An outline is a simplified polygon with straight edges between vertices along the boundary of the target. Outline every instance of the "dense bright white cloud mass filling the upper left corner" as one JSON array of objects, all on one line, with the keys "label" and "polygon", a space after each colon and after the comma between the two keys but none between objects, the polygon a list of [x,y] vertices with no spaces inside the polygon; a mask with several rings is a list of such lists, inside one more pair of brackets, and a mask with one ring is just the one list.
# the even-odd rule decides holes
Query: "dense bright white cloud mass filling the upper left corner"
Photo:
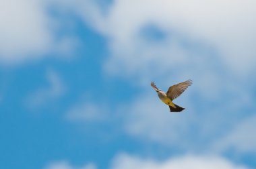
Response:
[{"label": "dense bright white cloud mass filling the upper left corner", "polygon": [[37,0],[0,2],[0,60],[19,62],[52,44],[44,4]]}]

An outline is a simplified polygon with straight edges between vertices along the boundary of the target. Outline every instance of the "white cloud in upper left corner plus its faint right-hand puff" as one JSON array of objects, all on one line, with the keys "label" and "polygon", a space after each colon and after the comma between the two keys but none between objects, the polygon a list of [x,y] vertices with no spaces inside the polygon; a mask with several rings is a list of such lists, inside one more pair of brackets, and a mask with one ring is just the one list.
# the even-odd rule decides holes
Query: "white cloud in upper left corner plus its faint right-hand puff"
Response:
[{"label": "white cloud in upper left corner plus its faint right-hand puff", "polygon": [[57,38],[58,21],[51,17],[48,7],[48,1],[39,0],[0,2],[1,64],[20,64],[51,52],[66,56],[73,50],[76,38]]}]

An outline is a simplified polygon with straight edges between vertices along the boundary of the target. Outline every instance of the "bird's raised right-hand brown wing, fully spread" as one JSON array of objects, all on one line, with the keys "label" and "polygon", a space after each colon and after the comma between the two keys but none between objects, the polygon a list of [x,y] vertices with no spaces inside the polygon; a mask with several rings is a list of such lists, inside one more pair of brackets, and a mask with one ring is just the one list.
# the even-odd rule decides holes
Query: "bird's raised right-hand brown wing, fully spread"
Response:
[{"label": "bird's raised right-hand brown wing, fully spread", "polygon": [[181,93],[183,93],[187,89],[187,87],[189,87],[191,84],[192,84],[191,79],[189,79],[185,82],[181,82],[179,84],[174,84],[173,86],[169,87],[166,95],[171,100],[174,100],[177,97],[179,97],[179,95],[181,95]]}]

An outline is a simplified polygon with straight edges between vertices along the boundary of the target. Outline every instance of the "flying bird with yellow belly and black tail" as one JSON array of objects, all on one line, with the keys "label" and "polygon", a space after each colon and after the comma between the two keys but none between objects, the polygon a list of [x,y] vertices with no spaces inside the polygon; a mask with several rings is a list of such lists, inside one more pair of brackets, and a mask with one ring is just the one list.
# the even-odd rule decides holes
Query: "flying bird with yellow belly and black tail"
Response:
[{"label": "flying bird with yellow belly and black tail", "polygon": [[181,93],[183,93],[191,84],[192,80],[186,80],[185,82],[180,82],[178,84],[174,84],[169,87],[168,91],[165,93],[164,91],[158,89],[154,82],[151,82],[151,86],[158,93],[158,97],[162,102],[169,106],[170,112],[181,112],[185,108],[180,107],[179,105],[175,105],[172,101],[179,97]]}]

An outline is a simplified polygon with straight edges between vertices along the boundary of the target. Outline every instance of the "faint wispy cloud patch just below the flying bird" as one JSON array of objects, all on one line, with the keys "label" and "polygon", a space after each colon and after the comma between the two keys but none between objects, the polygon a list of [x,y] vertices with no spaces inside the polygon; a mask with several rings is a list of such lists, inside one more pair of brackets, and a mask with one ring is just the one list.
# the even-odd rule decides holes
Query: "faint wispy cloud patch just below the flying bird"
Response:
[{"label": "faint wispy cloud patch just below the flying bird", "polygon": [[184,138],[189,133],[188,126],[192,125],[195,118],[191,111],[170,114],[168,107],[160,103],[157,96],[152,95],[139,97],[129,107],[124,119],[127,133],[145,142],[157,142],[166,146],[175,145],[176,142],[179,142],[179,146],[184,146],[187,142]]}]

